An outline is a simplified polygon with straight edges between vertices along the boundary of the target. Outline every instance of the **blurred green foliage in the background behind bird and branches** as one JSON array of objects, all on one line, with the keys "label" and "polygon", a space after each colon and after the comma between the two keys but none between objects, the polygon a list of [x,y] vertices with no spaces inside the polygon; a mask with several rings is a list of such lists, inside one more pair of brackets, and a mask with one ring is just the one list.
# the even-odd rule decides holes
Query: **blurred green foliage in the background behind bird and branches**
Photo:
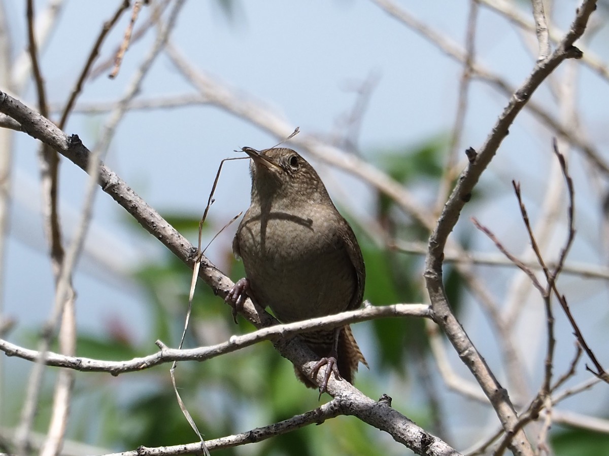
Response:
[{"label": "blurred green foliage in the background behind bird and branches", "polygon": [[[437,137],[412,148],[376,151],[370,154],[370,159],[410,190],[435,189],[442,178],[446,147],[446,139]],[[405,216],[384,195],[377,195],[376,207],[372,211],[378,223],[392,237],[407,241],[427,240],[427,230]],[[198,214],[164,214],[169,223],[191,238],[196,236],[199,217]],[[353,227],[366,264],[365,299],[373,305],[421,302],[423,258],[379,249],[368,240],[359,229],[361,227],[356,223]],[[218,229],[213,220],[208,220],[204,240],[211,239]],[[143,230],[138,227],[138,232],[143,233]],[[469,243],[471,230],[455,234],[463,245]],[[233,280],[242,277],[243,266],[234,260],[230,244],[222,247],[225,249],[220,254],[224,272]],[[183,331],[191,271],[167,252],[163,260],[146,264],[136,271],[135,278],[147,298],[150,322],[147,340],[132,340],[128,323],[113,321],[106,325],[101,336],[80,334],[77,344],[79,356],[132,359],[151,353],[152,340],[163,340],[171,347],[177,345]],[[451,305],[458,312],[463,283],[456,269],[449,264],[445,266],[445,283]],[[442,416],[446,410],[432,410],[429,398],[418,398],[417,404],[413,404],[406,387],[420,378],[417,366],[428,350],[423,323],[420,319],[392,318],[363,323],[372,338],[367,344],[371,353],[368,351],[365,356],[374,369],[371,376],[358,379],[357,386],[368,395],[378,397],[384,392],[379,390],[381,381],[387,381],[387,378],[398,381],[404,387],[392,391],[393,406],[429,429],[434,423],[434,412]],[[252,329],[242,318],[239,318],[238,326],[234,325],[228,306],[208,286],[199,283],[185,347],[224,342],[231,334]],[[77,376],[71,438],[119,451],[140,445],[166,446],[196,441],[177,404],[169,377],[170,367],[164,364],[118,378],[95,374]],[[208,439],[286,420],[323,403],[318,401],[314,390],[306,389],[297,381],[292,365],[281,358],[269,343],[201,363],[182,362],[175,375],[186,407],[200,432]],[[51,398],[51,388],[45,388],[43,407],[37,416],[40,432],[46,432],[43,423],[48,423]],[[327,399],[324,396],[322,401]],[[91,413],[91,410],[96,410],[96,413]],[[609,438],[580,430],[561,430],[552,435],[552,444],[559,456],[607,454]],[[255,445],[214,454],[392,455],[404,454],[404,447],[356,418],[341,416],[321,426],[308,426]]]}]

